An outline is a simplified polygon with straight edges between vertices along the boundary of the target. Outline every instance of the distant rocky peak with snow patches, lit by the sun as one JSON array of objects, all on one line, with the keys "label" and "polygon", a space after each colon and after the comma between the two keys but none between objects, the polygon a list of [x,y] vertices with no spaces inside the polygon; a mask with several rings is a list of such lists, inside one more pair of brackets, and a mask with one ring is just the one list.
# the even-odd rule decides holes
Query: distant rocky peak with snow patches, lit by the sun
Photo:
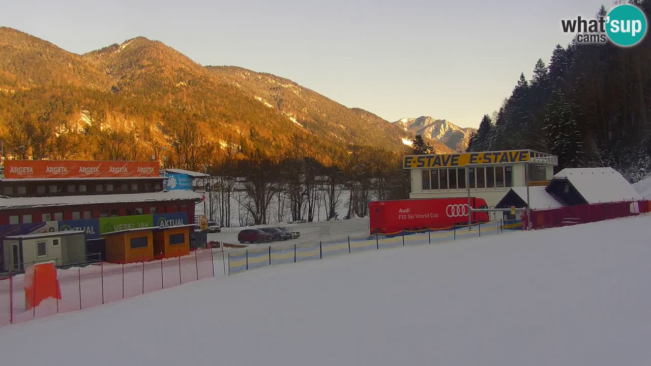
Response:
[{"label": "distant rocky peak with snow patches, lit by the sun", "polygon": [[461,128],[445,119],[433,119],[421,116],[418,118],[404,118],[394,122],[403,130],[411,134],[442,143],[453,151],[465,151],[468,148],[470,136],[477,132],[476,128]]}]

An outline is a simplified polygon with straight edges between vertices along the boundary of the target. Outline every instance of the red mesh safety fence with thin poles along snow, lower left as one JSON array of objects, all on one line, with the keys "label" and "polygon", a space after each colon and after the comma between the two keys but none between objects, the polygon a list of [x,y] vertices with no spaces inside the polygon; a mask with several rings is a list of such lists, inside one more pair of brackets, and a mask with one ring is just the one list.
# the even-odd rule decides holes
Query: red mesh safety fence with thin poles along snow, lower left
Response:
[{"label": "red mesh safety fence with thin poles along snow, lower left", "polygon": [[183,257],[139,263],[102,262],[83,268],[59,268],[56,280],[44,283],[38,281],[42,277],[38,270],[0,279],[0,326],[88,309],[213,277],[211,251],[199,249]]}]

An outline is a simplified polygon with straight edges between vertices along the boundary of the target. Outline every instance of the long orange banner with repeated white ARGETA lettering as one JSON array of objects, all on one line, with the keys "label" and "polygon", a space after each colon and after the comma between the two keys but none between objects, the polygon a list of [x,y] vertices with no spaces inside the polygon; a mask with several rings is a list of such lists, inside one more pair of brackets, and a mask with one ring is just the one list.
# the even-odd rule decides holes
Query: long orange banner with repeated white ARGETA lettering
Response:
[{"label": "long orange banner with repeated white ARGETA lettering", "polygon": [[126,178],[158,176],[158,162],[5,160],[5,178]]}]

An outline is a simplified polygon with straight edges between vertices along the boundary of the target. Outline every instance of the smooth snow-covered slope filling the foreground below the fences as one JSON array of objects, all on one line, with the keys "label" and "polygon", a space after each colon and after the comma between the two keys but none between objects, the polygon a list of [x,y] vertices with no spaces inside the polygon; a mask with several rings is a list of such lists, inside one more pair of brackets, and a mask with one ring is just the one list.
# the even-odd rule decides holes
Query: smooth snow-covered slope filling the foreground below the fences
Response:
[{"label": "smooth snow-covered slope filling the foreground below the fences", "polygon": [[618,219],[204,279],[5,326],[0,354],[7,365],[647,365],[650,224]]}]

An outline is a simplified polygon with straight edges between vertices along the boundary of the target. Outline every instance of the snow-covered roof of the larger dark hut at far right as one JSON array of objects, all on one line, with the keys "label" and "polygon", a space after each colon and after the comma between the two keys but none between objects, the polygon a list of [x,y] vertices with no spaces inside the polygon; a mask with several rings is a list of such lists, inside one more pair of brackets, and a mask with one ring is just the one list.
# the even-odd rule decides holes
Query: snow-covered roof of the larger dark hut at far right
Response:
[{"label": "snow-covered roof of the larger dark hut at far right", "polygon": [[552,181],[561,179],[568,180],[590,204],[642,199],[624,176],[613,168],[566,168],[554,175]]}]

